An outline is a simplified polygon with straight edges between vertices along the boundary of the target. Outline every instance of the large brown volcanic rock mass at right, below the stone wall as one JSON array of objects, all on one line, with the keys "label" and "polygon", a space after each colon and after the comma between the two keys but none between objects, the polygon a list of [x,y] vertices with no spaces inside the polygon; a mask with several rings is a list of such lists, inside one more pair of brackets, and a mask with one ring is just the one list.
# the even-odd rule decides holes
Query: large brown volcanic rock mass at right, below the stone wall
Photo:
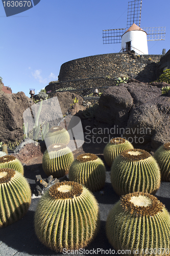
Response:
[{"label": "large brown volcanic rock mass at right, below the stone wall", "polygon": [[128,139],[135,148],[156,150],[170,138],[170,98],[161,94],[164,82],[143,83],[129,80],[108,88],[99,100],[95,118],[118,127],[116,136]]}]

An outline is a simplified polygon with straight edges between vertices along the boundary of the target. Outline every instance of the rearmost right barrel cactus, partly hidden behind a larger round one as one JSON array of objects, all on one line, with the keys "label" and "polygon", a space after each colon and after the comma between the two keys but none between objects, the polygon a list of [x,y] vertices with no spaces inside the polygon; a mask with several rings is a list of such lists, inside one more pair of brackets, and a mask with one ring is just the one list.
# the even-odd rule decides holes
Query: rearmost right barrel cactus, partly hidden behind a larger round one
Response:
[{"label": "rearmost right barrel cactus, partly hidden behind a larger round one", "polygon": [[133,145],[124,138],[111,139],[104,148],[104,158],[106,163],[111,167],[114,159],[124,150],[130,150],[134,148]]}]

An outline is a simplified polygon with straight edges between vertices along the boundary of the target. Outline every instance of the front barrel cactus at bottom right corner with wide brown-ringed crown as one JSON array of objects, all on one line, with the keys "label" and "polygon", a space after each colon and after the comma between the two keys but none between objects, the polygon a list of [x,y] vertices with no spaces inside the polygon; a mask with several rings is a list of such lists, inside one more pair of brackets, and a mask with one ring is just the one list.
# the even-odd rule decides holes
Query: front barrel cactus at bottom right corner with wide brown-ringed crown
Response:
[{"label": "front barrel cactus at bottom right corner with wide brown-ringed crown", "polygon": [[153,195],[136,192],[122,196],[106,221],[109,243],[128,255],[169,255],[170,215]]}]

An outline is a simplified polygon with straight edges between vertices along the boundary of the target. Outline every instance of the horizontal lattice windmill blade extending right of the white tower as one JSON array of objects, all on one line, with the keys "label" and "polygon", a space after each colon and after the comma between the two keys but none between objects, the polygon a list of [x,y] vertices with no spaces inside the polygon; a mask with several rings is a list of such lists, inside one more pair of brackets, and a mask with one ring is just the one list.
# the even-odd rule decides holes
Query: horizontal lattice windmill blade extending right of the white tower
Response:
[{"label": "horizontal lattice windmill blade extending right of the white tower", "polygon": [[148,41],[165,40],[165,27],[142,28],[147,32]]}]

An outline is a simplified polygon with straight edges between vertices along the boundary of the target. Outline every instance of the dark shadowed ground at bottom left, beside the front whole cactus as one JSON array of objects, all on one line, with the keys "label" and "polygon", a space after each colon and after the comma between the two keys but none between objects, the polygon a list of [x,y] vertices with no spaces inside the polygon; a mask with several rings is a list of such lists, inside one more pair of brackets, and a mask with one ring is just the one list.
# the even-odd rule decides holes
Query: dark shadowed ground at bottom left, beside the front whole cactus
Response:
[{"label": "dark shadowed ground at bottom left, beside the front whole cactus", "polygon": [[[37,204],[33,203],[32,208],[35,208]],[[63,255],[62,253],[57,254],[55,251],[48,249],[41,244],[36,237],[34,231],[34,211],[29,210],[19,221],[0,229],[0,240],[5,243],[6,251],[15,251],[21,253],[28,253],[30,255]],[[2,244],[1,244],[2,245]],[[1,254],[2,253],[2,254]],[[0,254],[3,255],[3,251]]]}]

